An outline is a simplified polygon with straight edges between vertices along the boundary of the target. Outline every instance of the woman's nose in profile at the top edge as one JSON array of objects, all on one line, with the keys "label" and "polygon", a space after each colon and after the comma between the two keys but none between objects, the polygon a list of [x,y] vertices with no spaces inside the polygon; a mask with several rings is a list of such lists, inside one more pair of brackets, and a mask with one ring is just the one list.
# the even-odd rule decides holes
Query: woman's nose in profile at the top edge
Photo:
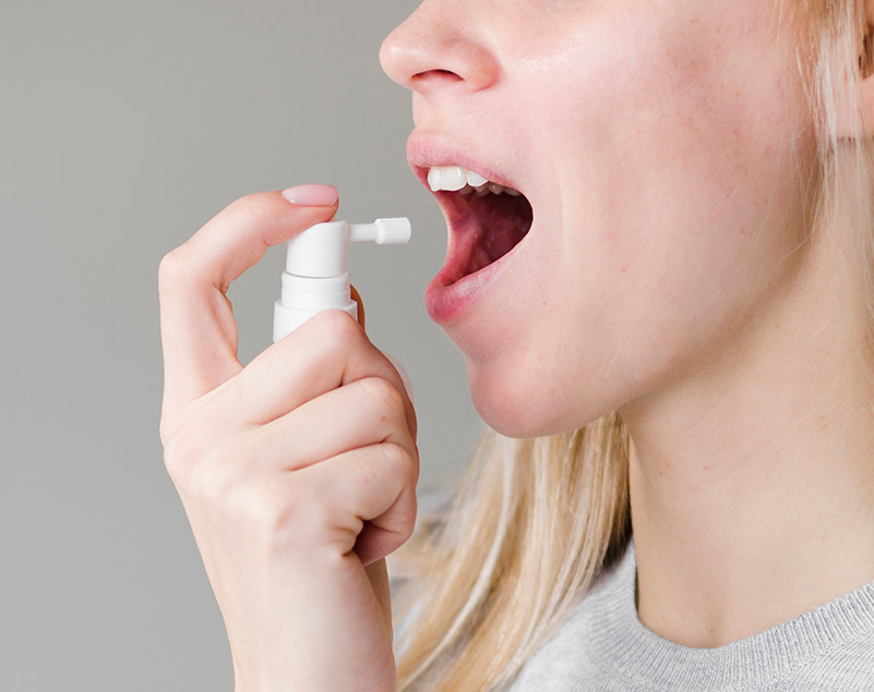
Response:
[{"label": "woman's nose in profile at the top edge", "polygon": [[424,0],[380,49],[385,73],[400,86],[427,94],[441,86],[491,86],[500,64],[478,34],[470,0]]}]

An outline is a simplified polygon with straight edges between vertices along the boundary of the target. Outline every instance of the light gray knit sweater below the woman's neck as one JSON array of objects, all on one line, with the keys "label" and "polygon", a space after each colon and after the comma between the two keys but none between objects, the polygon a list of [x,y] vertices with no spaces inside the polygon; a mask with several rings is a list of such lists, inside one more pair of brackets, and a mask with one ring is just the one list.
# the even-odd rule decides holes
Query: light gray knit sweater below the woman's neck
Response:
[{"label": "light gray knit sweater below the woman's neck", "polygon": [[510,690],[874,690],[874,582],[739,642],[690,648],[637,619],[636,574],[632,543]]}]

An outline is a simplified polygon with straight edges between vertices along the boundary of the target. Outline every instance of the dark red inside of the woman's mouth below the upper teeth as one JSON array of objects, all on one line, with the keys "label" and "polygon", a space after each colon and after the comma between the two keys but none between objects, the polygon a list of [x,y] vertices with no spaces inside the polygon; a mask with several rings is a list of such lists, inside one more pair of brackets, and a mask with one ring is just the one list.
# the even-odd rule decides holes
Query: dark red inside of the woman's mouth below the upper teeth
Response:
[{"label": "dark red inside of the woman's mouth below the upper teeth", "polygon": [[465,232],[458,239],[458,280],[496,262],[528,233],[534,220],[531,205],[525,195],[476,194],[462,197],[459,211],[466,216]]}]

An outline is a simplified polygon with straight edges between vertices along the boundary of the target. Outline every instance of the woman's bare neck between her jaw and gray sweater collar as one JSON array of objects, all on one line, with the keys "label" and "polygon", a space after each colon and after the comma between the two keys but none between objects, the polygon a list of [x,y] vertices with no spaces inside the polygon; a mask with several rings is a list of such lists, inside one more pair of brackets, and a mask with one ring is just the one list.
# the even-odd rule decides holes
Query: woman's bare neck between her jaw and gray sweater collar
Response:
[{"label": "woman's bare neck between her jaw and gray sweater collar", "polygon": [[863,311],[812,272],[743,349],[621,412],[638,617],[675,643],[738,641],[874,580]]}]

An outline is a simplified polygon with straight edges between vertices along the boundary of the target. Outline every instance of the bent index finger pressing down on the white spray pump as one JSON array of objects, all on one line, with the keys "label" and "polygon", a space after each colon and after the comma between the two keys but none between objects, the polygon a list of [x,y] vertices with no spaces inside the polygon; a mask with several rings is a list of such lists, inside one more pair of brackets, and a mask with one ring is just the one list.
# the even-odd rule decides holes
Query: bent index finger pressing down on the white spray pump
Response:
[{"label": "bent index finger pressing down on the white spray pump", "polygon": [[227,290],[267,247],[333,218],[336,189],[313,185],[308,192],[307,204],[278,191],[241,197],[161,260],[165,410],[193,401],[242,369]]}]

